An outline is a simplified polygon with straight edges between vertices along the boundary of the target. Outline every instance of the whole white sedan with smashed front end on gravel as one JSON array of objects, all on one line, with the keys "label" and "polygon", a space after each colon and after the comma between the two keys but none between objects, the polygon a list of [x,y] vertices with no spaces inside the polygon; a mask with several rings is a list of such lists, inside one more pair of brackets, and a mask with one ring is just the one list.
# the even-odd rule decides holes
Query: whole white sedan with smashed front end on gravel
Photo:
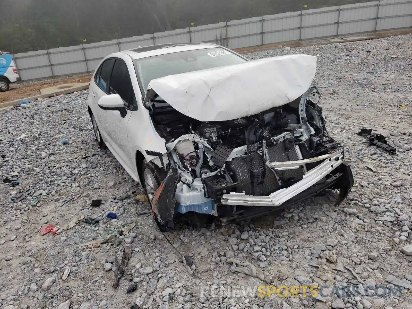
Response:
[{"label": "whole white sedan with smashed front end on gravel", "polygon": [[311,86],[316,57],[248,61],[215,44],[163,44],[111,54],[88,110],[96,140],[146,190],[160,228],[178,213],[223,224],[353,185]]}]

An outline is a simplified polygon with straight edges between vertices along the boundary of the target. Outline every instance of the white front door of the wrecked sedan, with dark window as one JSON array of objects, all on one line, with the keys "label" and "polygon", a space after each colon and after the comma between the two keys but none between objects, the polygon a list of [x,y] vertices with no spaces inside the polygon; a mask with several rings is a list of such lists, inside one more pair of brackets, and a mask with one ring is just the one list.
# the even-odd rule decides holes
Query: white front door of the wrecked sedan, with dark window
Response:
[{"label": "white front door of the wrecked sedan, with dark window", "polygon": [[132,111],[136,110],[136,98],[126,63],[117,58],[103,62],[97,84],[96,103],[99,98],[108,94],[119,94],[123,100],[126,115],[121,115],[118,110],[103,110],[97,104],[98,126],[101,128],[103,140],[116,159],[126,171],[133,171],[135,164],[130,159],[133,156],[127,138],[127,123]]}]

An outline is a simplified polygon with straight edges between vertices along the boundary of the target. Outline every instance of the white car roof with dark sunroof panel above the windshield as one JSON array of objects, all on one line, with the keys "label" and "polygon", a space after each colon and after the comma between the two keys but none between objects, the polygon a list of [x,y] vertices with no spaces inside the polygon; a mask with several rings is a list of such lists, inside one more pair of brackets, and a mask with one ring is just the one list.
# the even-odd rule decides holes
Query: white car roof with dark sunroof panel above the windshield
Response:
[{"label": "white car roof with dark sunroof panel above the windshield", "polygon": [[131,59],[141,59],[150,56],[158,56],[163,54],[172,54],[177,52],[184,52],[187,50],[195,49],[205,49],[220,47],[216,44],[211,43],[169,43],[169,44],[157,44],[144,47],[138,47],[133,49],[128,49],[120,53],[127,54]]}]

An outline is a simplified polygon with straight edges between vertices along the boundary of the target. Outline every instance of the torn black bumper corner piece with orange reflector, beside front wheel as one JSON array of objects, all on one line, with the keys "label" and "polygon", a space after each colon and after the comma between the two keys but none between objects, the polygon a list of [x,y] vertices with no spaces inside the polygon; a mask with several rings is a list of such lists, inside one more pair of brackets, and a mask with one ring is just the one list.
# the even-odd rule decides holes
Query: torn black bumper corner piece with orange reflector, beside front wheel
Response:
[{"label": "torn black bumper corner piece with orange reflector, beside front wheel", "polygon": [[169,170],[169,173],[153,197],[152,211],[155,213],[158,225],[160,223],[163,227],[174,227],[173,219],[178,208],[175,192],[179,180],[178,174],[172,169]]}]

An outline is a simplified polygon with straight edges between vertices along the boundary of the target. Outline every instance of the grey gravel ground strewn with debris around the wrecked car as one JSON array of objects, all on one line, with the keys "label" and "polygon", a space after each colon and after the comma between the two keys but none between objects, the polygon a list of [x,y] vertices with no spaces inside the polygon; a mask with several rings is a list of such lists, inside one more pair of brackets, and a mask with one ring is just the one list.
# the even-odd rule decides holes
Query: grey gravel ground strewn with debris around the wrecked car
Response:
[{"label": "grey gravel ground strewn with debris around the wrecked car", "polygon": [[[318,56],[320,104],[329,133],[346,145],[355,185],[338,207],[327,194],[237,225],[182,220],[166,236],[190,256],[193,274],[152,216],[141,214],[149,208],[139,201],[142,188],[98,149],[87,91],[1,110],[0,180],[19,185],[0,183],[0,308],[412,308],[411,51],[405,35],[247,55]],[[387,136],[398,155],[367,147],[356,135],[363,127]],[[28,189],[22,201],[10,200]],[[91,207],[97,198],[101,206]],[[105,214],[114,210],[119,218],[110,221]],[[98,222],[65,229],[80,215]],[[49,224],[57,234],[40,236]],[[130,244],[131,260],[115,289],[119,241]],[[263,269],[264,279],[231,272],[233,257]],[[325,297],[229,293],[266,284],[329,289]],[[397,286],[400,293],[384,293]]]}]

